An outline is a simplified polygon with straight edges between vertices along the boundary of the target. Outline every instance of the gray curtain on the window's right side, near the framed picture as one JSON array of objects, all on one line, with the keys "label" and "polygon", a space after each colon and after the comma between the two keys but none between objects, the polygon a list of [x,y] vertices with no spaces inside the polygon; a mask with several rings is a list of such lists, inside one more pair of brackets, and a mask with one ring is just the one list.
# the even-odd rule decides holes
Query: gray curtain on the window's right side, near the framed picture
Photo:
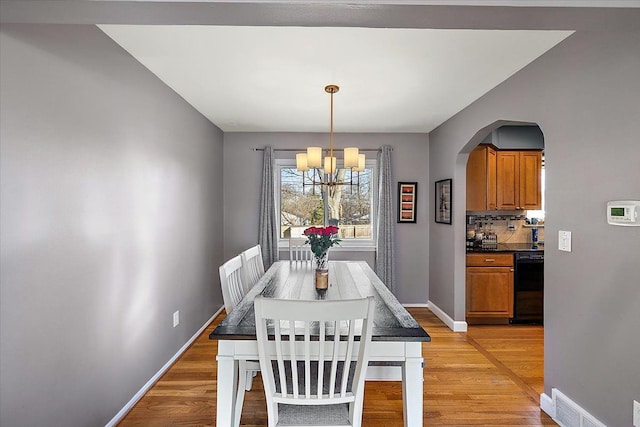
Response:
[{"label": "gray curtain on the window's right side, near the framed picture", "polygon": [[395,294],[394,284],[394,222],[393,188],[391,184],[391,151],[388,145],[378,153],[378,245],[376,247],[376,274]]}]

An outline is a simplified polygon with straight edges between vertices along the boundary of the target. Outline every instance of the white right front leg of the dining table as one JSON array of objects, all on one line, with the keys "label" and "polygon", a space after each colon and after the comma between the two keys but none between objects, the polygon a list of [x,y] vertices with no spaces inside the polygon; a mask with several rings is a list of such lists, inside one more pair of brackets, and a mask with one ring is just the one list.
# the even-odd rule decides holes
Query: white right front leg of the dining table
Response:
[{"label": "white right front leg of the dining table", "polygon": [[423,362],[422,343],[405,344],[407,357],[402,367],[402,402],[405,427],[422,427]]}]

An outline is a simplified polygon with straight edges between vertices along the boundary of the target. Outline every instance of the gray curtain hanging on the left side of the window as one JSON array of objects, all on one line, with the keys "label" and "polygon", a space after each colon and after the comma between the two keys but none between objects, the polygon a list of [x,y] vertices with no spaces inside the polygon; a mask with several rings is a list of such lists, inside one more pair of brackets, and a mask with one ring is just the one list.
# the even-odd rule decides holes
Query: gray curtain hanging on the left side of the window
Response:
[{"label": "gray curtain hanging on the left side of the window", "polygon": [[278,260],[278,234],[276,226],[275,183],[273,147],[264,148],[262,166],[262,191],[260,193],[260,225],[258,243],[262,249],[262,261],[267,269]]}]

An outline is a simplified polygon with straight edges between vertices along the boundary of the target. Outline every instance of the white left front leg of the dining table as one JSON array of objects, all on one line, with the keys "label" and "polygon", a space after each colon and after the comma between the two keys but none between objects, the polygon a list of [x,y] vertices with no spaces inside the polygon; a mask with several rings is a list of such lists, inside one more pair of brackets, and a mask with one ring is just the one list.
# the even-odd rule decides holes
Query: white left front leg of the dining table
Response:
[{"label": "white left front leg of the dining table", "polygon": [[238,361],[233,358],[233,343],[218,341],[218,399],[216,403],[216,426],[234,427],[235,405],[238,387]]}]

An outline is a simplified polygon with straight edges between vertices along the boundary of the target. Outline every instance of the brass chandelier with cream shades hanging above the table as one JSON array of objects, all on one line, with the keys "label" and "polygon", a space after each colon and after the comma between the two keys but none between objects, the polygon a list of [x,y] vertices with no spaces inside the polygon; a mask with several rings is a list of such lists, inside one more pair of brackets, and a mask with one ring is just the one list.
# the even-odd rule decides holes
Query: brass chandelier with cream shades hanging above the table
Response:
[{"label": "brass chandelier with cream shades hanging above the table", "polygon": [[[329,128],[329,149],[323,150],[322,147],[307,147],[306,153],[296,154],[296,169],[303,172],[302,185],[324,185],[330,189],[339,185],[359,186],[360,172],[365,170],[365,155],[359,153],[357,147],[347,147],[344,149],[343,165],[345,169],[351,169],[349,181],[339,178],[337,159],[333,152],[333,95],[340,88],[337,85],[328,85],[324,88],[331,96],[331,125]],[[324,157],[324,165],[322,162],[323,151],[328,154]],[[306,182],[304,172],[313,169],[311,182]],[[357,172],[358,180],[353,181],[353,172]]]}]

